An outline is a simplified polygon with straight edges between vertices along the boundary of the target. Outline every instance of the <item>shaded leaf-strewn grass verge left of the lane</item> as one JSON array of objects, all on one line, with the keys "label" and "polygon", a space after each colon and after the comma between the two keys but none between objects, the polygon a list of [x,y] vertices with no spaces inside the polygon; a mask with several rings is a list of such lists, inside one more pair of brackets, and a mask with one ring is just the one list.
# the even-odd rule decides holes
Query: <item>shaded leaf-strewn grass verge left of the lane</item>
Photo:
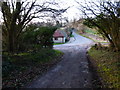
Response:
[{"label": "shaded leaf-strewn grass verge left of the lane", "polygon": [[62,55],[62,52],[53,49],[3,55],[2,87],[23,87],[55,65]]}]

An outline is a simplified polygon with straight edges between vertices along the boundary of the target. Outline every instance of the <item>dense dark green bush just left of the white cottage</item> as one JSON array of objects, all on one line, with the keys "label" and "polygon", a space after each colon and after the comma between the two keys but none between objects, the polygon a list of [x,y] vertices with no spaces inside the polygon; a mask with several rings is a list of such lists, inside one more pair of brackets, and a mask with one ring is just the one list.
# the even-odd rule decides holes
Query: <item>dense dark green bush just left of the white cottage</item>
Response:
[{"label": "dense dark green bush just left of the white cottage", "polygon": [[53,47],[53,33],[56,27],[29,26],[21,35],[20,51],[37,50],[41,47]]}]

